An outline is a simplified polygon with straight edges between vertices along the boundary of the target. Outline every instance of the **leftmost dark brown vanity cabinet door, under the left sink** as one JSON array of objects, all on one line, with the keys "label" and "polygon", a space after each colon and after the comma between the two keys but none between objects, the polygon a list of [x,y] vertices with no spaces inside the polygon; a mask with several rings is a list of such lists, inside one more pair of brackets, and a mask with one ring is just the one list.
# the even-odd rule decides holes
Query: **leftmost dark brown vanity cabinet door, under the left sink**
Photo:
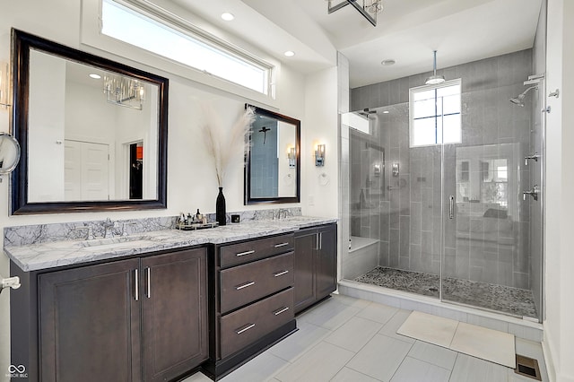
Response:
[{"label": "leftmost dark brown vanity cabinet door, under the left sink", "polygon": [[40,380],[141,381],[138,259],[39,275]]}]

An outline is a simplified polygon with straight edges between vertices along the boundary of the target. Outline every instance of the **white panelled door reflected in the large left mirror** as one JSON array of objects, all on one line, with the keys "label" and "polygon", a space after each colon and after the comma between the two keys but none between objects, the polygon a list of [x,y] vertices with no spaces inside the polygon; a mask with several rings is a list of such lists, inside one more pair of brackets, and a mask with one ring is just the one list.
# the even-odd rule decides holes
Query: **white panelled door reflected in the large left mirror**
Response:
[{"label": "white panelled door reflected in the large left mirror", "polygon": [[109,200],[109,145],[65,140],[66,201]]}]

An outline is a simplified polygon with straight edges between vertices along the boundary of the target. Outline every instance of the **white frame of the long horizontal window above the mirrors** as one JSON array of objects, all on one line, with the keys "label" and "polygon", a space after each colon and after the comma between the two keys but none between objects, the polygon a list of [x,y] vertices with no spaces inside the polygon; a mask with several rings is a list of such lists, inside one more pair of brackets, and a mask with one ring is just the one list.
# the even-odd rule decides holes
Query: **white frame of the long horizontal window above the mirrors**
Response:
[{"label": "white frame of the long horizontal window above the mirrors", "polygon": [[[163,8],[146,0],[114,1],[135,10],[137,13],[142,13],[144,16],[149,17],[156,22],[161,22],[173,30],[185,33],[204,43],[209,43],[212,47],[215,46],[220,48],[231,56],[239,57],[250,63],[265,67],[268,70],[266,94],[249,89],[245,86],[239,85],[238,83],[222,79],[221,77],[209,74],[206,71],[201,71],[191,66],[178,63],[168,57],[160,56],[143,48],[138,48],[134,45],[101,33],[102,0],[83,0],[81,25],[81,42],[83,45],[97,48],[117,56],[123,56],[135,61],[136,63],[143,63],[143,65],[149,65],[168,73],[177,74],[189,80],[200,82],[234,95],[239,95],[247,98],[248,100],[254,100],[272,107],[277,106],[274,83],[275,78],[280,74],[281,65],[273,57],[265,55],[255,47],[248,46],[247,43],[241,42],[243,46],[247,46],[247,48],[242,48],[196,27],[191,22],[187,22],[183,17],[176,15],[174,10],[167,9],[170,6],[175,6],[173,4],[162,3],[162,6],[165,6],[165,8]],[[186,17],[187,16],[188,15],[186,15]]]}]

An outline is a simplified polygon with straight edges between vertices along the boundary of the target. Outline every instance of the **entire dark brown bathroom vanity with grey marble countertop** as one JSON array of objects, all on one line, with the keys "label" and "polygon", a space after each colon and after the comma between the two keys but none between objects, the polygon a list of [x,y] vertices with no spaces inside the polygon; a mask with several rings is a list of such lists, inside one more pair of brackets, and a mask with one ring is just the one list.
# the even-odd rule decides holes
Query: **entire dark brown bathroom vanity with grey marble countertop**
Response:
[{"label": "entire dark brown bathroom vanity with grey marble countertop", "polygon": [[335,220],[122,238],[4,247],[22,282],[11,294],[11,362],[28,380],[222,378],[336,288]]}]

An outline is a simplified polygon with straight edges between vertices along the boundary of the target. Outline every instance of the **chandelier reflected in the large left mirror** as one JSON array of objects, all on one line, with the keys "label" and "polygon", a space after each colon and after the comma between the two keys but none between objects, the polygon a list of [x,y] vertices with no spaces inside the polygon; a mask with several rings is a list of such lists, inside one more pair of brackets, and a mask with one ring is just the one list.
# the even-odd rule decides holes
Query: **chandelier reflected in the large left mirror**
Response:
[{"label": "chandelier reflected in the large left mirror", "polygon": [[143,83],[124,76],[104,75],[104,93],[108,102],[131,109],[141,110],[145,100]]}]

